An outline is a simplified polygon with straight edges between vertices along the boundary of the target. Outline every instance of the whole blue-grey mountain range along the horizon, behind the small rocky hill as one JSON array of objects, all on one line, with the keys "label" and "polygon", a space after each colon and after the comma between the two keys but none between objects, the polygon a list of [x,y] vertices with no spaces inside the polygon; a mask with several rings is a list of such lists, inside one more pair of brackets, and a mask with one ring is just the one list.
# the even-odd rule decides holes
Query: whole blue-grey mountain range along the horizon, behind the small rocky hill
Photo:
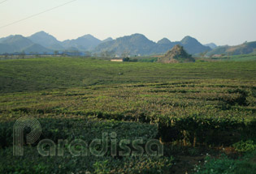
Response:
[{"label": "whole blue-grey mountain range along the horizon, behind the small rocky hill", "polygon": [[[256,43],[256,42],[255,42]],[[80,36],[73,40],[59,41],[54,36],[46,32],[37,32],[32,36],[24,37],[11,35],[0,38],[0,54],[4,53],[54,53],[54,51],[80,53],[94,53],[96,55],[151,55],[163,54],[175,45],[183,46],[189,54],[206,53],[207,56],[213,54],[240,54],[253,53],[256,48],[254,43],[246,43],[236,47],[222,46],[215,44],[202,45],[198,40],[191,36],[185,36],[183,40],[171,41],[167,38],[154,42],[142,34],[132,34],[113,40],[111,37],[106,40],[99,40],[92,35]]]}]

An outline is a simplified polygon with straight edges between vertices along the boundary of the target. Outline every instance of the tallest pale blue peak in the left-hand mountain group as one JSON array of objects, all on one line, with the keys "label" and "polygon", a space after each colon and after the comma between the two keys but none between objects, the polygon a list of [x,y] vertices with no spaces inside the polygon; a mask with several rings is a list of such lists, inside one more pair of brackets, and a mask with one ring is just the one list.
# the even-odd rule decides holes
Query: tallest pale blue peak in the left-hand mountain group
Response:
[{"label": "tallest pale blue peak in the left-hand mountain group", "polygon": [[28,37],[33,43],[53,50],[64,50],[61,42],[46,32],[37,32]]}]

